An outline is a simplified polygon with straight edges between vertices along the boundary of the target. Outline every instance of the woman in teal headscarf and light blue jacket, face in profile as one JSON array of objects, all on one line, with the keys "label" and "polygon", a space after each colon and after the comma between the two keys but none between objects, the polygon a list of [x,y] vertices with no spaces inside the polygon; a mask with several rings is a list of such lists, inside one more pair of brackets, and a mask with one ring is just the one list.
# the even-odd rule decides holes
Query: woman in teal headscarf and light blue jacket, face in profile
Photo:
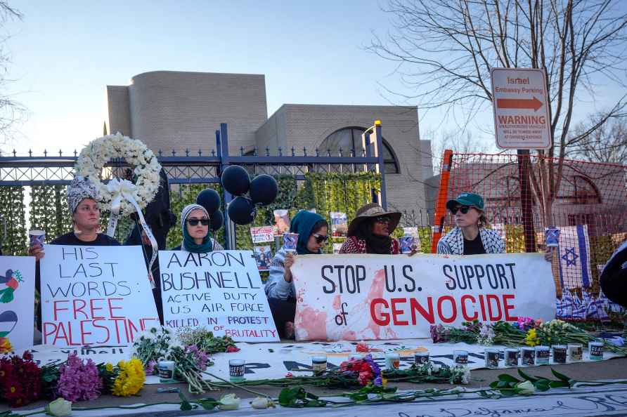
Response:
[{"label": "woman in teal headscarf and light blue jacket, face in profile", "polygon": [[265,290],[276,329],[283,338],[294,338],[296,290],[290,268],[297,255],[322,253],[322,246],[329,238],[328,229],[327,221],[319,214],[299,211],[290,225],[290,232],[298,234],[296,254],[283,248],[272,258]]}]

